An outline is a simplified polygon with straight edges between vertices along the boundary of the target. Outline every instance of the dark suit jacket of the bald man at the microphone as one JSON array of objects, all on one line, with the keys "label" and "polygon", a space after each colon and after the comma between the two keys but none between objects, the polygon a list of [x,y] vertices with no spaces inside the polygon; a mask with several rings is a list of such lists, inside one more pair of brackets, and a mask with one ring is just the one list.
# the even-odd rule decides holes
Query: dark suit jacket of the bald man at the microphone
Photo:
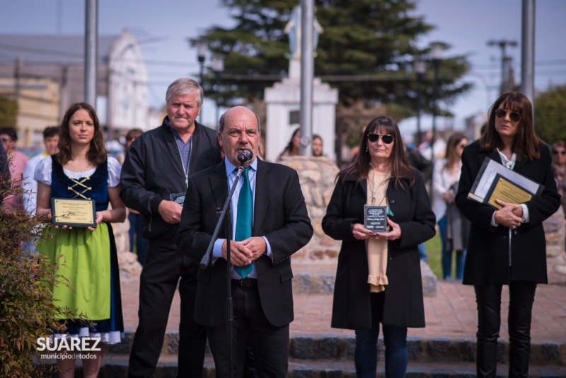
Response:
[{"label": "dark suit jacket of the bald man at the microphone", "polygon": [[[189,178],[189,186],[179,231],[175,241],[180,253],[200,261],[207,250],[219,211],[228,197],[224,161]],[[258,160],[253,206],[253,236],[265,236],[272,257],[255,260],[258,290],[263,313],[273,326],[293,321],[291,255],[313,236],[299,176],[281,164]],[[219,235],[226,237],[226,227]],[[195,321],[204,326],[219,326],[226,320],[226,260],[197,274]]]}]

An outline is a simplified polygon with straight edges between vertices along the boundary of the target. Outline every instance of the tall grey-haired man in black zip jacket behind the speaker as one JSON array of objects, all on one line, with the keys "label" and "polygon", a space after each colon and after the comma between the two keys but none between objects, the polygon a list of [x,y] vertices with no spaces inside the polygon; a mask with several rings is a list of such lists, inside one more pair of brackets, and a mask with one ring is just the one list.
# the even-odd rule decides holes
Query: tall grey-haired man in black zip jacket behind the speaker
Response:
[{"label": "tall grey-haired man in black zip jacket behind the speaker", "polygon": [[177,286],[181,297],[178,377],[202,375],[206,330],[193,320],[198,265],[175,246],[188,177],[221,161],[216,132],[196,122],[202,98],[196,81],[173,81],[167,89],[163,125],[132,143],[122,167],[120,197],[144,215],[143,234],[149,239],[129,377],[153,376]]}]

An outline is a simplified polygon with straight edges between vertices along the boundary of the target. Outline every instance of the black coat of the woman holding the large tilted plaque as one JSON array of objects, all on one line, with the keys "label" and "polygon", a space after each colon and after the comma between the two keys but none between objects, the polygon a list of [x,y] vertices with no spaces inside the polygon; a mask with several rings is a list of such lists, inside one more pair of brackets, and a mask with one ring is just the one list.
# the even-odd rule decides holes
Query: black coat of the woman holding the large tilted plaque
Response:
[{"label": "black coat of the woman holding the large tilted plaque", "polygon": [[560,207],[560,195],[553,177],[550,151],[545,144],[541,144],[540,149],[540,159],[530,161],[522,156],[513,169],[544,185],[544,190],[540,197],[525,202],[530,222],[512,231],[509,247],[509,228],[501,225],[491,227],[492,215],[497,209],[468,199],[484,159],[489,157],[501,164],[499,153],[497,150],[481,149],[479,142],[464,148],[456,206],[471,222],[464,266],[465,285],[504,285],[516,280],[547,282],[543,221]]}]

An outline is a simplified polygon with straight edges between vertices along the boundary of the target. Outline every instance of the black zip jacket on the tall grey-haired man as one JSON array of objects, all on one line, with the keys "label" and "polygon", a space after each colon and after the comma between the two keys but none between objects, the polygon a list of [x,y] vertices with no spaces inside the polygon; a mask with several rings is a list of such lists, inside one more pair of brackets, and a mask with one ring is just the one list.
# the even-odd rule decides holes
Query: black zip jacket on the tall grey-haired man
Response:
[{"label": "black zip jacket on the tall grey-haired man", "polygon": [[[171,200],[171,194],[185,193],[187,178],[175,136],[165,120],[160,127],[141,134],[129,147],[120,176],[120,197],[127,207],[144,215],[142,234],[150,244],[176,248],[179,224],[165,222],[158,207],[161,201]],[[216,135],[216,131],[195,122],[189,176],[221,161]]]}]

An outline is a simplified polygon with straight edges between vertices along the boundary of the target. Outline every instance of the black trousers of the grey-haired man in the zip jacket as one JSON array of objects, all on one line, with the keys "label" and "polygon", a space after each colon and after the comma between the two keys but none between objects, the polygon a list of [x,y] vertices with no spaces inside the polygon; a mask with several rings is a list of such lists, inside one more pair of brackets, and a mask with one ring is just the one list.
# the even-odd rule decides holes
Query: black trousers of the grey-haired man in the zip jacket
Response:
[{"label": "black trousers of the grey-haired man in the zip jacket", "polygon": [[206,328],[193,320],[198,263],[150,244],[139,280],[139,324],[129,355],[130,378],[153,377],[177,286],[181,298],[178,377],[202,376]]}]

